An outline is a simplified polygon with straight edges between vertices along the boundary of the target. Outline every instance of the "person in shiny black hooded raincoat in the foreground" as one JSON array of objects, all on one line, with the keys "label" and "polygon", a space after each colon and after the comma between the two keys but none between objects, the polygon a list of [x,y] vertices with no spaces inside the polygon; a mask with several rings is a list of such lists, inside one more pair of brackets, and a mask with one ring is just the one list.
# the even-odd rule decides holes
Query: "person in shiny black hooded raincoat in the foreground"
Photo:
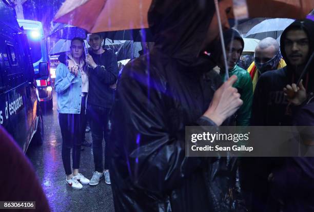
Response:
[{"label": "person in shiny black hooded raincoat in the foreground", "polygon": [[221,86],[208,71],[215,64],[200,54],[218,36],[213,15],[213,1],[152,1],[155,45],[124,67],[110,116],[116,212],[224,211],[225,194],[210,190],[215,159],[185,157],[186,125],[220,125],[242,104],[232,88],[237,77]]}]

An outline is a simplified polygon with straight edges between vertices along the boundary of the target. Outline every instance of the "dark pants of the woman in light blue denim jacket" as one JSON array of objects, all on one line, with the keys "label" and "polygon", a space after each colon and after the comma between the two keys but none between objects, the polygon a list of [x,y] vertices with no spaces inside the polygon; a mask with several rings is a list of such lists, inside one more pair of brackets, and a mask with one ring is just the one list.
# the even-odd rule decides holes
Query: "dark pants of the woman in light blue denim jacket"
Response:
[{"label": "dark pants of the woman in light blue denim jacket", "polygon": [[[82,97],[82,103],[85,97]],[[82,104],[81,114],[59,114],[59,124],[62,135],[62,161],[66,175],[71,171],[71,148],[72,168],[80,168],[81,145],[82,145],[82,119],[85,117],[85,104]]]}]

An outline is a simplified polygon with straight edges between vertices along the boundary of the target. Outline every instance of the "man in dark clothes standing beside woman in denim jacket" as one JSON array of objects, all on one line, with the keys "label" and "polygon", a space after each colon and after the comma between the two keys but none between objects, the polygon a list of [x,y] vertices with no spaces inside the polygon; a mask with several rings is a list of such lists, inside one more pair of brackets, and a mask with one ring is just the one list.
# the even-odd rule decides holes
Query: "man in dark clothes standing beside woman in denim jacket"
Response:
[{"label": "man in dark clothes standing beside woman in denim jacket", "polygon": [[[103,49],[104,37],[101,33],[88,36],[91,47],[86,57],[89,65],[88,80],[89,93],[87,98],[87,111],[90,115],[90,129],[92,133],[92,149],[94,156],[95,172],[90,180],[90,185],[99,184],[105,175],[105,182],[111,184],[109,175],[109,138],[107,137],[107,124],[109,112],[114,98],[112,85],[118,76],[116,55],[111,49]],[[105,138],[105,166],[103,166],[103,139]],[[105,171],[105,172],[104,172]]]}]

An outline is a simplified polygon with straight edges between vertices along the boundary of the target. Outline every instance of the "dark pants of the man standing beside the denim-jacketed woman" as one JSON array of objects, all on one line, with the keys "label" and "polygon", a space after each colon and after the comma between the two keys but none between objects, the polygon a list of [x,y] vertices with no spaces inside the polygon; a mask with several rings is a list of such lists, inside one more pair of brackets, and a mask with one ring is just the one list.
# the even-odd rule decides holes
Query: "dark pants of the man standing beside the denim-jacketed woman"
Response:
[{"label": "dark pants of the man standing beside the denim-jacketed woman", "polygon": [[[107,124],[109,120],[110,109],[96,107],[90,105],[88,114],[90,117],[90,130],[92,133],[92,149],[95,163],[95,171],[102,173],[104,169],[109,169],[109,154],[108,154],[108,136]],[[103,166],[103,139],[105,139],[105,167]]]}]

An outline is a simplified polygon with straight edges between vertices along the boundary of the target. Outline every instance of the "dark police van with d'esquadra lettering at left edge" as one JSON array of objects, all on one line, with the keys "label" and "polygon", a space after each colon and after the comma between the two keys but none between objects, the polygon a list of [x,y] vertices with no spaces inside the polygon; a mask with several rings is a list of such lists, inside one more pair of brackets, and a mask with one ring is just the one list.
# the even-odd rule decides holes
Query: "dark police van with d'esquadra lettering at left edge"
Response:
[{"label": "dark police van with d'esquadra lettering at left edge", "polygon": [[48,62],[34,73],[27,35],[12,5],[0,0],[0,124],[24,152],[43,142],[43,116],[36,79],[48,78]]}]

